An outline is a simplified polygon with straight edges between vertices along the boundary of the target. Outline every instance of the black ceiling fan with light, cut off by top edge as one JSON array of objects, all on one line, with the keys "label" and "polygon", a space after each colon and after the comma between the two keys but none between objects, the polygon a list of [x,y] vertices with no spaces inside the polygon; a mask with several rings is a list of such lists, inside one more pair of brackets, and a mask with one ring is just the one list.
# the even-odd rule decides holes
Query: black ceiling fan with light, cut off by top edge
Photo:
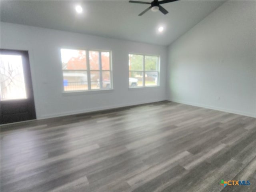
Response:
[{"label": "black ceiling fan with light, cut off by top edge", "polygon": [[[177,1],[177,0],[174,0],[174,1]],[[163,14],[168,14],[168,11],[165,8],[163,8],[162,6],[160,6],[160,4],[170,3],[170,2],[174,2],[174,1],[158,1],[158,0],[154,0],[151,3],[143,2],[143,1],[129,1],[129,3],[151,4],[151,6],[149,8],[147,8],[146,10],[144,10],[143,12],[141,12],[139,14],[139,16],[142,16],[144,13],[146,13],[150,9],[152,11],[154,11],[154,12],[160,10],[160,12],[162,12]]]}]

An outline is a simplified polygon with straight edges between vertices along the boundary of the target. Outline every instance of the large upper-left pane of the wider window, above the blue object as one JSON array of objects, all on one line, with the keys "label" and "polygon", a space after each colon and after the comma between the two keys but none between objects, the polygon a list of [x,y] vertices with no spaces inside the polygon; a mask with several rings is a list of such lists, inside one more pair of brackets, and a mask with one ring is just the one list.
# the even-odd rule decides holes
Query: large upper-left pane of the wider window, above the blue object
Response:
[{"label": "large upper-left pane of the wider window, above the blue object", "polygon": [[85,50],[61,49],[63,70],[86,70]]}]

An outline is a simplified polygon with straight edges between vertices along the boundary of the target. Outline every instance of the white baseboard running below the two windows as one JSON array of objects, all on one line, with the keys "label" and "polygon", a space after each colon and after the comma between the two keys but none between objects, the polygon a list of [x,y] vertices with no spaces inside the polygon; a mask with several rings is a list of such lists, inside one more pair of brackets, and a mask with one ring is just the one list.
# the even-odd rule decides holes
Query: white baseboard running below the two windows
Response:
[{"label": "white baseboard running below the two windows", "polygon": [[120,107],[128,107],[133,105],[140,105],[140,104],[147,104],[147,103],[153,103],[153,102],[160,102],[164,101],[166,99],[160,99],[160,100],[148,100],[144,102],[132,102],[129,104],[119,104],[119,105],[112,105],[112,106],[104,106],[104,107],[97,107],[97,108],[91,108],[91,109],[85,109],[85,110],[76,110],[71,112],[62,112],[58,114],[47,114],[41,117],[38,117],[38,120],[41,119],[47,119],[47,118],[54,118],[54,117],[61,117],[61,116],[67,116],[67,115],[75,115],[75,114],[81,114],[81,113],[88,113],[88,112],[96,112],[100,110],[108,110],[108,109],[114,109],[114,108],[120,108]]}]

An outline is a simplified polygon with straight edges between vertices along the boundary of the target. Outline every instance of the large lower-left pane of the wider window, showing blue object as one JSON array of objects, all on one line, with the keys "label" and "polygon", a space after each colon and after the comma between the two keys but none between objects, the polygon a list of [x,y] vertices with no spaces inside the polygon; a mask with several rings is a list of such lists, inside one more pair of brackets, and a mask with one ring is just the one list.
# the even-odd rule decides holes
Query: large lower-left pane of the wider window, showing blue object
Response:
[{"label": "large lower-left pane of the wider window, showing blue object", "polygon": [[86,71],[63,71],[64,91],[88,90]]}]

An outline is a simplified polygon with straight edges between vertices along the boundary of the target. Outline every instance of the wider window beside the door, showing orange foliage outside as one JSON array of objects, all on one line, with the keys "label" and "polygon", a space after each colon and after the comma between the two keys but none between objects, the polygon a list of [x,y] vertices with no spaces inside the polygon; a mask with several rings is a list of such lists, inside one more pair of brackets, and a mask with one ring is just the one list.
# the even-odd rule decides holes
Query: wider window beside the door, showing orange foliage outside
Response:
[{"label": "wider window beside the door, showing orange foliage outside", "polygon": [[64,91],[112,88],[109,51],[61,49]]}]

